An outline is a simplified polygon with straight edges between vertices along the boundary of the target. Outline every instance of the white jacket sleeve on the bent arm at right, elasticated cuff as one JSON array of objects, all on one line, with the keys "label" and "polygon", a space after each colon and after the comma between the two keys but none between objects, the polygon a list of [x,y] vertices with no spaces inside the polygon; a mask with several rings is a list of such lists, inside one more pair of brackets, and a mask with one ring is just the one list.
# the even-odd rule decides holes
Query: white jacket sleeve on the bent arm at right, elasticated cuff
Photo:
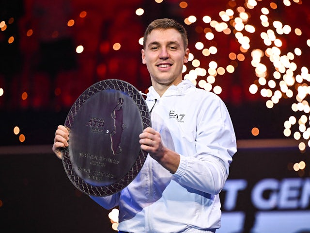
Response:
[{"label": "white jacket sleeve on the bent arm at right, elasticated cuff", "polygon": [[216,195],[224,187],[236,150],[236,138],[228,110],[219,98],[202,105],[197,116],[196,154],[180,154],[173,174],[181,185]]}]

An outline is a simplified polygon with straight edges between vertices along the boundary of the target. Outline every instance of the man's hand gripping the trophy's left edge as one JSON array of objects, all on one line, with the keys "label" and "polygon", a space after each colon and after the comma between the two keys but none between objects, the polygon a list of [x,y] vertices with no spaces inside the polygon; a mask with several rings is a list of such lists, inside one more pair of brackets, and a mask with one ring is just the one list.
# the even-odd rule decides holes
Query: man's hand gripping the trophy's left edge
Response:
[{"label": "man's hand gripping the trophy's left edge", "polygon": [[54,145],[52,150],[57,155],[58,158],[62,158],[62,151],[61,149],[68,147],[69,143],[69,131],[63,125],[59,125],[57,127],[55,138],[54,138]]}]

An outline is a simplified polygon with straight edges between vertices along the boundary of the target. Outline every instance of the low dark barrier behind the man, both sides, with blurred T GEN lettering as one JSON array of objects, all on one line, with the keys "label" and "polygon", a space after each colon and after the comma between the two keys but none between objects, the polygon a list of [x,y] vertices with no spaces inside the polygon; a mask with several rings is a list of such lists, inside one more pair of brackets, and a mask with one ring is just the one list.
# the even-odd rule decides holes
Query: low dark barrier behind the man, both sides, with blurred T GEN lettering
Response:
[{"label": "low dark barrier behind the man, both sides, with blurred T GEN lettering", "polygon": [[[220,193],[217,233],[310,232],[309,157],[290,140],[238,141]],[[79,192],[48,146],[0,147],[0,232],[115,233],[105,210]]]}]

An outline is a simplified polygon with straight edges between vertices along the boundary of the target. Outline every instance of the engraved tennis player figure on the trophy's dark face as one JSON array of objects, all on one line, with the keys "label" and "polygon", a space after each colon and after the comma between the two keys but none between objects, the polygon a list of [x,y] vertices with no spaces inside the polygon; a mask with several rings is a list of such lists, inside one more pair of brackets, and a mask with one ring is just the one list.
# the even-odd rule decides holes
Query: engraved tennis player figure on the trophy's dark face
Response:
[{"label": "engraved tennis player figure on the trophy's dark face", "polygon": [[122,97],[119,98],[111,114],[112,118],[114,119],[114,130],[110,133],[110,137],[111,149],[114,155],[122,152],[120,144],[123,130],[126,128],[126,125],[123,123],[123,103],[124,99]]}]

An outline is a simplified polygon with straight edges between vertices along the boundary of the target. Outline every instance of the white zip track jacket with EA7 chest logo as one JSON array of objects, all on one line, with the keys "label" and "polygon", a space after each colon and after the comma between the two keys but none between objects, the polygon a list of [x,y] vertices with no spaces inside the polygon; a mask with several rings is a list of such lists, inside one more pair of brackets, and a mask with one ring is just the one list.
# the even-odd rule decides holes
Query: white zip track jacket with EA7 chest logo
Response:
[{"label": "white zip track jacket with EA7 chest logo", "polygon": [[171,174],[149,155],[121,192],[91,197],[106,209],[119,206],[119,231],[205,233],[220,227],[220,200],[236,152],[233,124],[223,101],[188,80],[162,97],[149,88],[152,128],[181,156]]}]

